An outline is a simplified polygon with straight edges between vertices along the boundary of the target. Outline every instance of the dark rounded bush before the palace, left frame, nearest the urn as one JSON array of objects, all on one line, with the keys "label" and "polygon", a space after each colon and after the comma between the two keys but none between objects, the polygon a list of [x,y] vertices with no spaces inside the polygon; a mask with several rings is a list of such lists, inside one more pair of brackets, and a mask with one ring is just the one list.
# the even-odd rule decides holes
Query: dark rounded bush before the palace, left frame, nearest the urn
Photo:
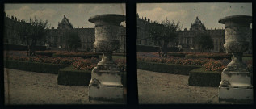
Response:
[{"label": "dark rounded bush before the palace, left frame, nearest the urn", "polygon": [[78,47],[81,47],[81,39],[76,32],[65,33],[65,49],[67,51],[77,51]]}]

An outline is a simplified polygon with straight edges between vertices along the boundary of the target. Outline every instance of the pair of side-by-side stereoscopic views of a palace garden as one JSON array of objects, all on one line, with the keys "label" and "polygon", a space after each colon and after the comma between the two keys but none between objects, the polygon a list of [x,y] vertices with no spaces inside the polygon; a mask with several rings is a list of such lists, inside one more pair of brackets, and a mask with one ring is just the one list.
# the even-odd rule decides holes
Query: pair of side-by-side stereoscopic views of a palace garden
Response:
[{"label": "pair of side-by-side stereoscopic views of a palace garden", "polygon": [[[5,3],[4,105],[127,104],[128,96],[138,96],[138,104],[253,104],[251,2],[126,9]],[[128,28],[136,40],[127,41],[134,37]],[[132,50],[136,60],[127,63]],[[136,94],[128,94],[131,81]]]}]

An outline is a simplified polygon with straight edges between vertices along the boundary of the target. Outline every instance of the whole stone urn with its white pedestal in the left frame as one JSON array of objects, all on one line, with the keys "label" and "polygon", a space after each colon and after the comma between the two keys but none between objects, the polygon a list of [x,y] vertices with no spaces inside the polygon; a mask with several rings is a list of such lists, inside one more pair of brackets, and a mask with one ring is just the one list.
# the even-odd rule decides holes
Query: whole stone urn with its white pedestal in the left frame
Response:
[{"label": "whole stone urn with its white pedestal in the left frame", "polygon": [[112,60],[112,52],[119,48],[118,30],[124,15],[96,15],[89,19],[95,23],[94,48],[103,52],[102,60],[92,70],[89,99],[124,101],[121,72]]}]

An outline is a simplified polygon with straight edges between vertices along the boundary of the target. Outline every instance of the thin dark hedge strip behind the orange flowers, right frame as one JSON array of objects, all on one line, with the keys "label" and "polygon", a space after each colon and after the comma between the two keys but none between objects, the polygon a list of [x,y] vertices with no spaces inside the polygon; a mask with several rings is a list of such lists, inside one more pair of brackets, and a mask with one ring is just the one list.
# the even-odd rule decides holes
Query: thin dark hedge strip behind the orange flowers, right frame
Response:
[{"label": "thin dark hedge strip behind the orange flowers, right frame", "polygon": [[223,59],[228,59],[231,60],[232,55],[230,56],[194,56],[194,55],[186,55],[186,58],[212,58],[215,60],[223,60]]}]

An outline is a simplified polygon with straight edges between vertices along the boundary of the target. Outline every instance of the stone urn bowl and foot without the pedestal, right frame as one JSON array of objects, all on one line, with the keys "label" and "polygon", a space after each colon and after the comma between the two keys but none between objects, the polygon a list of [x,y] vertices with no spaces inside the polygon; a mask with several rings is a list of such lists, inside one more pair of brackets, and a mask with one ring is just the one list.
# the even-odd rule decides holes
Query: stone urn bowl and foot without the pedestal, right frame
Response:
[{"label": "stone urn bowl and foot without the pedestal, right frame", "polygon": [[247,15],[233,15],[219,20],[219,23],[225,24],[224,48],[233,54],[233,59],[227,66],[230,70],[246,69],[246,65],[242,63],[242,54],[248,50],[251,22],[252,17]]}]

